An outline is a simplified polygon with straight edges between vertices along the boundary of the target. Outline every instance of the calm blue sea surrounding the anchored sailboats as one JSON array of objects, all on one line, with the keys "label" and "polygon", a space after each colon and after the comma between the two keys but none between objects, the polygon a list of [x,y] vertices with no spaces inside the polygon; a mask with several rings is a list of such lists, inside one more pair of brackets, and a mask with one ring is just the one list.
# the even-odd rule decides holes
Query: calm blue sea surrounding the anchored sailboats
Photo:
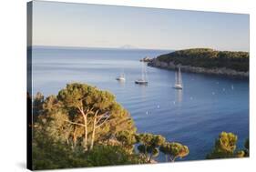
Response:
[{"label": "calm blue sea surrounding the anchored sailboats", "polygon": [[[33,48],[33,94],[56,95],[67,83],[82,82],[109,90],[128,109],[138,132],[149,132],[189,147],[183,160],[204,159],[221,131],[249,137],[249,81],[222,76],[182,73],[183,90],[173,89],[174,71],[148,67],[148,86],[139,59],[165,50],[99,48]],[[124,71],[127,81],[116,77]],[[158,158],[164,161],[162,155]]]}]

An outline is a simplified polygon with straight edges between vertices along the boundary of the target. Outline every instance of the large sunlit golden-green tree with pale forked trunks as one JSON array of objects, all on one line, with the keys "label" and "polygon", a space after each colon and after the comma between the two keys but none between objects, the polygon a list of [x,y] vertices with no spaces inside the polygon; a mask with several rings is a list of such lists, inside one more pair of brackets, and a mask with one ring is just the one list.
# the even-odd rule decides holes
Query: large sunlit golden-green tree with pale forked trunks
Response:
[{"label": "large sunlit golden-green tree with pale forked trunks", "polygon": [[136,132],[128,111],[116,102],[115,96],[94,86],[67,85],[57,96],[46,97],[42,109],[34,110],[41,114],[36,129],[72,149],[82,146],[87,151],[93,149],[95,142],[108,142],[119,131]]}]

